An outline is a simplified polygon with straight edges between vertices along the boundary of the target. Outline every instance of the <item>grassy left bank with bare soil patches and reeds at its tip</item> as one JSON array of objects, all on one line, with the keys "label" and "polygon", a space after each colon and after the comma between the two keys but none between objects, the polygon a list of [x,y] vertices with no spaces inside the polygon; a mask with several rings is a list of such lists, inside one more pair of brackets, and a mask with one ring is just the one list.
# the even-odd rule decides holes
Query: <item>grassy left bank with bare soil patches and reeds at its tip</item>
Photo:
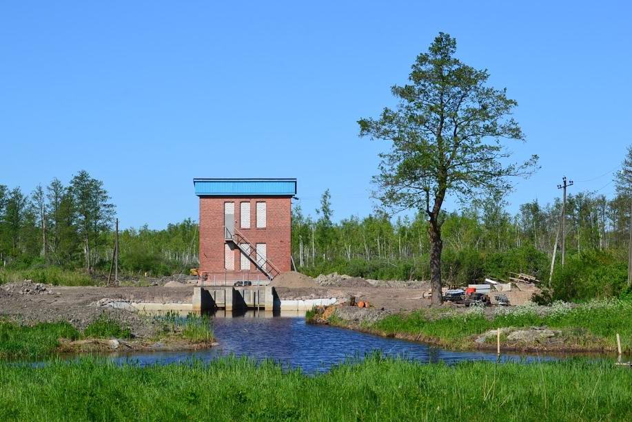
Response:
[{"label": "grassy left bank with bare soil patches and reeds at its tip", "polygon": [[[126,341],[126,348],[142,350],[161,342],[163,348],[197,348],[214,341],[210,319],[189,315],[158,319],[159,328],[151,338]],[[0,319],[0,359],[42,359],[57,352],[107,350],[108,343],[98,339],[132,339],[132,330],[116,319],[101,314],[85,329],[77,330],[66,321],[33,326]]]}]

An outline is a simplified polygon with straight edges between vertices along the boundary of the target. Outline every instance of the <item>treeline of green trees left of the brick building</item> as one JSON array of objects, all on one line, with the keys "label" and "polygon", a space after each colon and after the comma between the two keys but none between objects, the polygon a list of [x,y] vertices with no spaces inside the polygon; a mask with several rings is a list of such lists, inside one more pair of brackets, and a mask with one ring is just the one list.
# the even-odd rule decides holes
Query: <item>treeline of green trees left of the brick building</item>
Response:
[{"label": "treeline of green trees left of the brick building", "polygon": [[[79,171],[68,185],[54,178],[31,193],[0,184],[0,264],[109,271],[115,207],[101,180]],[[164,230],[120,233],[121,270],[167,275],[197,266],[198,226],[192,220]]]}]

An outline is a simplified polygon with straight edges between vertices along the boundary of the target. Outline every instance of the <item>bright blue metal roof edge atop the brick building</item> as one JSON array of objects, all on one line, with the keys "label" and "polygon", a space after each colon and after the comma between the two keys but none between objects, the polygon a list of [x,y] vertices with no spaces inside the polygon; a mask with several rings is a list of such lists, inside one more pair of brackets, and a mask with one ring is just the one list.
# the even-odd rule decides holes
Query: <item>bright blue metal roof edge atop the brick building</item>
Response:
[{"label": "bright blue metal roof edge atop the brick building", "polygon": [[294,196],[296,179],[193,179],[197,196]]}]

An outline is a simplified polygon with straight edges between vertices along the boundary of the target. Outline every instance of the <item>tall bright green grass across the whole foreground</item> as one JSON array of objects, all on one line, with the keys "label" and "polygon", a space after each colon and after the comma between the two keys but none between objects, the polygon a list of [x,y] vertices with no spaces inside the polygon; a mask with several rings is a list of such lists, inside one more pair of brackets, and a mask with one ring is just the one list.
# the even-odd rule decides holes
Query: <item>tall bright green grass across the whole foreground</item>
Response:
[{"label": "tall bright green grass across the whole foreground", "polygon": [[626,421],[632,371],[610,362],[419,365],[379,356],[314,377],[208,365],[0,363],[2,421]]}]

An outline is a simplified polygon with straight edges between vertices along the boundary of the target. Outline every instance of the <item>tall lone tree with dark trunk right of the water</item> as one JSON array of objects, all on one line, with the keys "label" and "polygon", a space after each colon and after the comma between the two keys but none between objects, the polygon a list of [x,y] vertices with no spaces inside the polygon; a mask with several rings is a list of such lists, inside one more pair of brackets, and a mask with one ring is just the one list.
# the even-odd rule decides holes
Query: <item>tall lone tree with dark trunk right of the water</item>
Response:
[{"label": "tall lone tree with dark trunk right of the water", "polygon": [[441,225],[447,196],[461,200],[511,189],[509,176],[526,176],[538,156],[508,162],[502,140],[524,140],[511,114],[516,101],[487,85],[487,70],[465,65],[456,40],[440,33],[412,65],[409,84],[395,85],[395,109],[358,120],[360,136],[387,140],[374,176],[376,197],[393,211],[420,209],[429,220],[432,304],[442,302]]}]

